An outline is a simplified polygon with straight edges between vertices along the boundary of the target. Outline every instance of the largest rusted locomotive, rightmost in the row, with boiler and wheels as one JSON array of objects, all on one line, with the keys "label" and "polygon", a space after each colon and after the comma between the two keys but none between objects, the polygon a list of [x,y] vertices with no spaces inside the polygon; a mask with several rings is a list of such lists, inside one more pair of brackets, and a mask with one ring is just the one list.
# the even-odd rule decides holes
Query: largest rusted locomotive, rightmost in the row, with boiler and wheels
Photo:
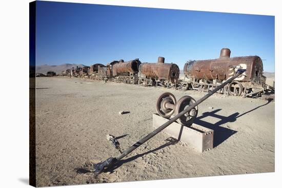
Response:
[{"label": "largest rusted locomotive, rightmost in the row, with boiler and wheels", "polygon": [[[223,48],[217,59],[187,61],[184,74],[189,85],[197,90],[213,90],[218,84],[234,76],[236,69],[246,69],[221,92],[234,96],[252,95],[266,89],[263,61],[258,56],[230,57],[231,51]],[[183,83],[185,84],[185,83]]]}]

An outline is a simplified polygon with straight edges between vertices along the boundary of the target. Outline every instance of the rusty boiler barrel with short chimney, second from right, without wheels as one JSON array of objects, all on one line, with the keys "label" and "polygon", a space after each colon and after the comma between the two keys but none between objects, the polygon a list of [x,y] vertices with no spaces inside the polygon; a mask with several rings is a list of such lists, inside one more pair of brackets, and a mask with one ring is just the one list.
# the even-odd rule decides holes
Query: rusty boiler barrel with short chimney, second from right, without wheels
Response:
[{"label": "rusty boiler barrel with short chimney, second from right, without wheels", "polygon": [[176,64],[167,64],[162,60],[157,63],[143,63],[139,66],[139,72],[146,75],[147,77],[156,79],[166,79],[170,80],[172,83],[179,78],[179,68]]}]

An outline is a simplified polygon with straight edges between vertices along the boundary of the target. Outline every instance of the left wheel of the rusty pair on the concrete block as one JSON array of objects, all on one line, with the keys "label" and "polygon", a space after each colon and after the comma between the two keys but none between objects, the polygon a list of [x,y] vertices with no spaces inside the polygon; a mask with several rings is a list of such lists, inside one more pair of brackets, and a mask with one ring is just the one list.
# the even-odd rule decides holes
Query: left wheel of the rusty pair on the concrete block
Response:
[{"label": "left wheel of the rusty pair on the concrete block", "polygon": [[157,113],[165,118],[172,116],[174,109],[167,108],[166,103],[176,104],[176,98],[172,93],[166,92],[157,98]]}]

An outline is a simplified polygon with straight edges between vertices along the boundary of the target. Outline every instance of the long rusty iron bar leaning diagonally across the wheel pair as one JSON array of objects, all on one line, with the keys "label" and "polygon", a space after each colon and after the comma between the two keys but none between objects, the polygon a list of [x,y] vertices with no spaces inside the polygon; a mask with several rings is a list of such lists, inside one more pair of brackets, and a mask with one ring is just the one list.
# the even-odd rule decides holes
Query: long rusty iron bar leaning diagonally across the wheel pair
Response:
[{"label": "long rusty iron bar leaning diagonally across the wheel pair", "polygon": [[120,160],[122,158],[124,158],[125,156],[127,156],[128,154],[130,154],[133,150],[135,150],[136,148],[138,148],[140,145],[142,145],[143,143],[145,143],[146,141],[148,141],[150,138],[152,138],[153,136],[155,136],[156,134],[158,134],[160,131],[164,130],[166,127],[168,127],[171,123],[173,123],[174,121],[176,121],[178,118],[180,118],[181,116],[183,116],[184,114],[186,114],[187,112],[189,112],[190,110],[192,110],[193,108],[195,108],[196,106],[198,106],[201,102],[203,102],[204,100],[206,100],[207,98],[209,98],[211,95],[213,95],[215,92],[217,92],[218,90],[224,88],[226,85],[228,85],[229,83],[231,83],[235,78],[237,78],[238,76],[240,76],[243,72],[245,72],[246,70],[238,70],[237,73],[235,74],[235,76],[229,78],[228,80],[226,80],[224,83],[222,83],[220,86],[216,87],[213,91],[209,92],[208,94],[206,94],[204,97],[200,98],[199,100],[197,100],[196,102],[194,102],[191,106],[189,106],[187,109],[185,109],[184,111],[180,112],[179,114],[175,115],[174,117],[172,117],[169,121],[167,121],[166,123],[164,123],[162,126],[160,126],[159,128],[157,128],[156,130],[154,130],[153,132],[149,133],[147,136],[145,136],[144,138],[140,139],[139,141],[137,141],[136,143],[134,143],[130,148],[128,148],[127,150],[125,150],[122,154],[118,155],[117,157],[115,157],[116,160]]}]

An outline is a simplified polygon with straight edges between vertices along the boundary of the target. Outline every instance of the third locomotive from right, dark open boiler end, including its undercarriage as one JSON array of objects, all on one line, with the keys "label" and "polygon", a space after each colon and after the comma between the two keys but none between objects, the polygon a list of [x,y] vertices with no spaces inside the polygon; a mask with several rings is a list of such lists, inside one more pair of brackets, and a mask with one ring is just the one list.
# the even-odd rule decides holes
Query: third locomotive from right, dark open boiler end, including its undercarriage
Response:
[{"label": "third locomotive from right, dark open boiler end, including its undercarriage", "polygon": [[139,59],[124,62],[120,60],[118,64],[112,67],[112,74],[116,82],[124,82],[130,84],[137,84],[138,82],[138,68],[141,62]]}]

